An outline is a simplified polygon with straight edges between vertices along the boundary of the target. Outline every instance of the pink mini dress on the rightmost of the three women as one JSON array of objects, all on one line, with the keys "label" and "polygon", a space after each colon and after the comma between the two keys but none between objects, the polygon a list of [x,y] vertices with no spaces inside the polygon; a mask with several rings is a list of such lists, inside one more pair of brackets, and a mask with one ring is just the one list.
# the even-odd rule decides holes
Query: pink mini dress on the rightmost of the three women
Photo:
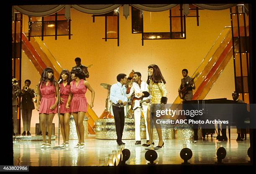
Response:
[{"label": "pink mini dress on the rightmost of the three women", "polygon": [[70,91],[73,94],[70,104],[71,112],[87,112],[87,99],[85,97],[87,87],[84,86],[84,80],[81,79],[77,87],[75,80],[73,80],[70,86]]}]

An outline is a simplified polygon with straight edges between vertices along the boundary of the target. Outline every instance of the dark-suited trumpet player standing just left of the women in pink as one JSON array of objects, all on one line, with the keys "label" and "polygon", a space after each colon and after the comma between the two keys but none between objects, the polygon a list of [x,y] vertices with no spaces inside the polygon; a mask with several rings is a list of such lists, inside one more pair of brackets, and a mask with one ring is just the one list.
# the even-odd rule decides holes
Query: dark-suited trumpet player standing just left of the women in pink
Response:
[{"label": "dark-suited trumpet player standing just left of the women in pink", "polygon": [[22,110],[22,121],[23,121],[23,133],[21,135],[25,136],[26,131],[27,135],[30,136],[30,124],[32,117],[32,110],[35,109],[35,105],[33,103],[33,98],[35,97],[34,89],[31,89],[29,86],[31,85],[30,80],[25,80],[25,85],[20,92],[21,104],[20,109]]}]

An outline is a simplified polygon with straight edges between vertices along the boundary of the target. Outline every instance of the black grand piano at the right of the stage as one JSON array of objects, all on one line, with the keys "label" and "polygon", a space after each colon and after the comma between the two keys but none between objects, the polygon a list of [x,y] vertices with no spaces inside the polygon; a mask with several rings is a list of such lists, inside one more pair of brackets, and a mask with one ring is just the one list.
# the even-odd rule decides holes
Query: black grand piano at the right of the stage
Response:
[{"label": "black grand piano at the right of the stage", "polygon": [[[187,119],[197,120],[227,120],[228,124],[222,124],[222,135],[226,132],[226,126],[228,126],[228,134],[230,139],[230,126],[236,126],[238,129],[248,128],[248,121],[250,120],[249,113],[247,111],[246,103],[238,103],[234,100],[228,100],[226,98],[220,99],[205,99],[205,100],[190,100],[182,102],[182,109],[192,110],[198,109],[202,110],[203,114],[199,117],[187,117]],[[198,124],[194,124],[194,129],[197,129]],[[202,132],[213,134],[215,131],[217,133],[217,139],[223,140],[220,136],[220,129],[215,129],[214,124],[201,124]],[[223,132],[225,131],[225,132]]]}]

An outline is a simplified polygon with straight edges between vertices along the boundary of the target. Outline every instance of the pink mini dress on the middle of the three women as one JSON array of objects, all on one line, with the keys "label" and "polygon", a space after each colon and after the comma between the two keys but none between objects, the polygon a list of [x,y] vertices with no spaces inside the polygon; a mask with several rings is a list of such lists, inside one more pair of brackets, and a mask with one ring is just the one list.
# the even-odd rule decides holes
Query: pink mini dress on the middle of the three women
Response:
[{"label": "pink mini dress on the middle of the three women", "polygon": [[61,83],[61,90],[60,90],[60,97],[63,98],[63,103],[60,103],[60,113],[61,114],[65,114],[65,113],[70,113],[70,107],[69,109],[66,108],[66,104],[67,104],[67,100],[69,98],[69,94],[70,94],[70,86],[66,85],[64,87],[63,83]]}]

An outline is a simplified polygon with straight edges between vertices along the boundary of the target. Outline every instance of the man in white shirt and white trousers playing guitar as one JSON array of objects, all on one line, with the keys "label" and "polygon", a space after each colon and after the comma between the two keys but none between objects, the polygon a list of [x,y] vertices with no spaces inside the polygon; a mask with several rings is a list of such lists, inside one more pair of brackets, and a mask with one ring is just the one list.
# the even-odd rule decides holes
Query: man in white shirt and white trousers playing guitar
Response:
[{"label": "man in white shirt and white trousers playing guitar", "polygon": [[[132,83],[133,82],[133,83]],[[148,84],[141,80],[141,73],[140,72],[134,72],[133,74],[133,81],[128,86],[127,89],[127,98],[130,98],[132,94],[135,94],[134,99],[138,99],[142,97],[143,92],[148,92]],[[135,145],[136,144],[141,144],[141,134],[140,134],[140,125],[141,125],[141,111],[143,112],[144,119],[145,119],[145,124],[146,124],[146,130],[147,129],[147,109],[148,109],[148,102],[149,102],[149,97],[144,97],[143,100],[146,100],[146,102],[142,103],[142,108],[138,107],[137,109],[134,110],[134,119],[135,119]],[[133,99],[133,100],[134,100]],[[149,140],[148,136],[148,131],[146,131],[146,139],[147,141]]]}]

